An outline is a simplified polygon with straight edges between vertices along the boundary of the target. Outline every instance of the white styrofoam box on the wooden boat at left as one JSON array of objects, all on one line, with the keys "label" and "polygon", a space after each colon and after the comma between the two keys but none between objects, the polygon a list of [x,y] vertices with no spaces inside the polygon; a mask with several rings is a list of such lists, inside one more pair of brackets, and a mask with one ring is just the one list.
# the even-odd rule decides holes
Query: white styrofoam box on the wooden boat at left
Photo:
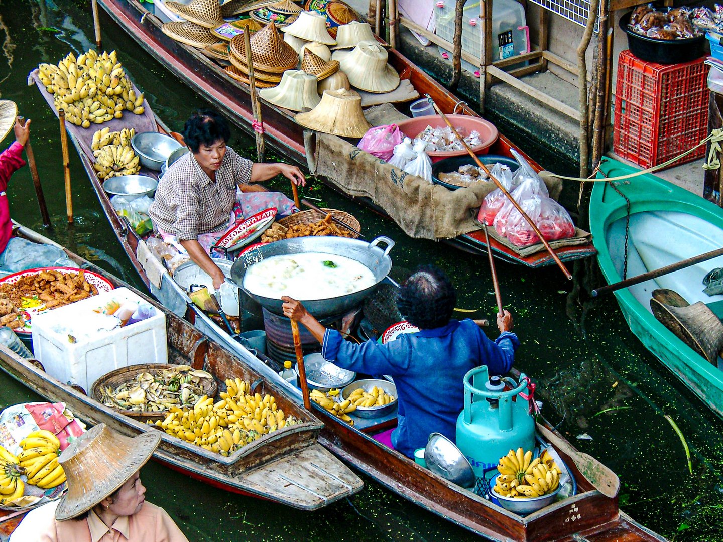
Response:
[{"label": "white styrofoam box on the wooden boat at left", "polygon": [[114,369],[168,363],[166,315],[156,309],[153,317],[108,330],[94,309],[111,300],[145,301],[128,288],[116,288],[33,317],[33,351],[51,377],[90,394],[95,381]]}]

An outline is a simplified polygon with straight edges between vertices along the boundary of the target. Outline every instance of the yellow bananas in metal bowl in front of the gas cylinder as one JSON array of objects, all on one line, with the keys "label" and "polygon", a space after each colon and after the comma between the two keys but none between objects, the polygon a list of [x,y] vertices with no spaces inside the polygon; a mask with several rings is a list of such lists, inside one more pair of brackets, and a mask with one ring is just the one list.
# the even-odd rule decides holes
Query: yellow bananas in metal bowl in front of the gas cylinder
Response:
[{"label": "yellow bananas in metal bowl in front of the gas cylinder", "polygon": [[507,455],[500,457],[497,470],[500,476],[497,476],[495,491],[515,499],[532,499],[552,493],[560,486],[562,473],[547,449],[535,459],[532,459],[531,451],[510,449]]}]

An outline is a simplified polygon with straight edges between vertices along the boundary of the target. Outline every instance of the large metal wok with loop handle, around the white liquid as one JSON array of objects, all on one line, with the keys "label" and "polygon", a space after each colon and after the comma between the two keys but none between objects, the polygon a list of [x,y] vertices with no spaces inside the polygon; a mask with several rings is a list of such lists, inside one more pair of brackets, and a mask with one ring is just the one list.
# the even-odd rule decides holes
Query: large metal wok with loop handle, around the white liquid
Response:
[{"label": "large metal wok with loop handle, around the white liquid", "polygon": [[[384,250],[378,246],[380,242],[386,244]],[[283,301],[281,301],[281,298],[257,296],[244,288],[244,275],[252,264],[271,256],[299,254],[301,252],[323,252],[325,254],[334,254],[335,256],[345,256],[355,259],[357,262],[361,262],[372,270],[375,278],[374,285],[358,292],[348,293],[344,296],[304,301],[304,306],[307,310],[317,318],[341,316],[341,314],[345,314],[349,310],[354,309],[354,307],[361,305],[364,298],[367,298],[367,296],[373,293],[379,283],[388,275],[392,268],[392,259],[389,257],[389,251],[393,246],[394,241],[384,236],[375,238],[371,243],[359,241],[358,239],[333,236],[283,239],[283,241],[275,241],[270,244],[261,245],[241,254],[241,256],[236,259],[236,262],[234,262],[233,267],[231,267],[231,278],[226,278],[226,280],[236,287],[241,288],[241,290],[261,306],[265,307],[265,309],[283,316],[283,309],[281,308]]]}]

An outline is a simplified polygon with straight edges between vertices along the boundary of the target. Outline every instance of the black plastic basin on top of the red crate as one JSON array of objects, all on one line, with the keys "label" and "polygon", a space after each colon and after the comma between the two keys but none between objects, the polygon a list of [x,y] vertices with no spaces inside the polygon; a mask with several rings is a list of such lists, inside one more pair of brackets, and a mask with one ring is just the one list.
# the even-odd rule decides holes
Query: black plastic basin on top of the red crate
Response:
[{"label": "black plastic basin on top of the red crate", "polygon": [[628,28],[632,13],[620,17],[618,25],[628,35],[628,48],[638,59],[657,64],[682,64],[708,53],[708,42],[703,34],[683,40],[659,40],[633,32]]}]

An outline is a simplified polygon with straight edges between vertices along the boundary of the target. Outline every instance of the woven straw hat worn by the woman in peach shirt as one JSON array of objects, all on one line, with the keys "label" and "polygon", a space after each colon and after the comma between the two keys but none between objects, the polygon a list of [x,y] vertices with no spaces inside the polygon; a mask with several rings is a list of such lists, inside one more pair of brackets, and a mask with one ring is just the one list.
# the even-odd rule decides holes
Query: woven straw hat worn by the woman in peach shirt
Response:
[{"label": "woven straw hat worn by the woman in peach shirt", "polygon": [[160,442],[161,431],[125,436],[105,423],[71,442],[58,460],[68,480],[68,492],[60,499],[55,519],[70,520],[114,494],[145,465]]}]

